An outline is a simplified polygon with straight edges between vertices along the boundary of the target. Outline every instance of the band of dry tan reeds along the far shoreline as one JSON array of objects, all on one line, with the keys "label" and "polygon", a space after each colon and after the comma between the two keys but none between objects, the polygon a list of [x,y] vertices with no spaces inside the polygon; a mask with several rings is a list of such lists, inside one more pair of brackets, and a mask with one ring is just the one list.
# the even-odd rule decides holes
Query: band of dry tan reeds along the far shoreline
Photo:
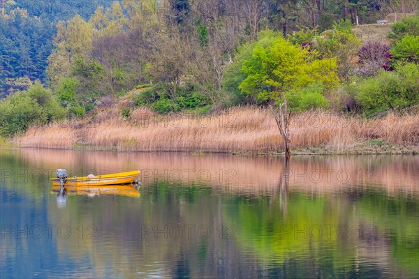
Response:
[{"label": "band of dry tan reeds along the far shoreline", "polygon": [[[291,135],[294,153],[418,153],[419,115],[366,120],[330,112],[297,114]],[[30,128],[13,143],[43,149],[282,152],[274,118],[254,107],[211,116],[162,116],[142,107],[128,117],[112,108],[80,122]]]}]

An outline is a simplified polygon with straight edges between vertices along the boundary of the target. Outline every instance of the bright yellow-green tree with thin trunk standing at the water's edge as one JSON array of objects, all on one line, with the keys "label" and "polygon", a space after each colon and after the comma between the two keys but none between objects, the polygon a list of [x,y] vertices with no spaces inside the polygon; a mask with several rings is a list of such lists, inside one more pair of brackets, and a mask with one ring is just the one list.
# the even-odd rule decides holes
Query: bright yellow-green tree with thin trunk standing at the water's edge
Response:
[{"label": "bright yellow-green tree with thin trunk standing at the water's edge", "polygon": [[[256,99],[270,103],[282,139],[286,160],[291,156],[291,135],[286,93],[303,89],[309,84],[323,84],[326,89],[339,81],[335,59],[316,59],[307,48],[291,44],[272,32],[260,34],[252,58],[244,62],[247,78],[240,89],[256,95]],[[274,109],[275,106],[278,109]]]}]

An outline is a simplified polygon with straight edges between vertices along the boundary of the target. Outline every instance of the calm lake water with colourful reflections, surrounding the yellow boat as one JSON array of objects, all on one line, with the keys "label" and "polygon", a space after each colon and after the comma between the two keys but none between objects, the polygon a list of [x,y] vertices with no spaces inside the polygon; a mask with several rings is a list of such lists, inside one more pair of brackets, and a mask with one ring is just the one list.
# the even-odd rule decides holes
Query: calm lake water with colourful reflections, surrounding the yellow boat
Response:
[{"label": "calm lake water with colourful reflections, surrounding the yellow boat", "polygon": [[[419,156],[295,156],[285,167],[21,149],[0,163],[0,278],[419,276]],[[142,184],[59,199],[58,168],[140,169]]]}]

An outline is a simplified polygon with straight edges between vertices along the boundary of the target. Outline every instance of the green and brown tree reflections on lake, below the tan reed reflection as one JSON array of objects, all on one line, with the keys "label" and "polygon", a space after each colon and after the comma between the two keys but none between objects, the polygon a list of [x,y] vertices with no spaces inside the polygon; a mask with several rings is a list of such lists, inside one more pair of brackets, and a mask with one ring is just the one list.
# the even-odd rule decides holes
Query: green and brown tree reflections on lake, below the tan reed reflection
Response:
[{"label": "green and brown tree reflections on lake, below the tan reed reflection", "polygon": [[[285,184],[282,186],[276,197],[249,198],[217,193],[210,187],[160,183],[142,188],[141,199],[81,200],[67,208],[68,216],[53,210],[48,214],[52,223],[64,217],[84,226],[98,225],[97,240],[75,240],[82,245],[68,247],[68,242],[59,239],[59,249],[67,250],[76,260],[90,255],[96,272],[105,272],[108,262],[117,262],[112,267],[116,276],[159,270],[170,276],[243,277],[243,271],[251,274],[255,268],[267,269],[272,275],[304,271],[308,277],[319,270],[325,276],[356,272],[378,276],[383,272],[397,277],[415,272],[418,208],[412,207],[403,195],[388,199],[373,189],[362,199],[351,199],[343,193],[311,196],[287,192]],[[207,239],[141,235],[145,225],[162,229],[165,225],[186,224],[210,225],[213,234]],[[351,229],[348,238],[336,233],[342,224]],[[220,225],[233,225],[235,239],[220,238],[215,232]],[[325,225],[333,225],[334,231],[321,239],[281,232],[284,226],[309,229]],[[364,227],[362,234],[357,231],[360,225]],[[368,230],[370,225],[376,226],[376,233]],[[115,259],[112,255],[123,257]]]}]

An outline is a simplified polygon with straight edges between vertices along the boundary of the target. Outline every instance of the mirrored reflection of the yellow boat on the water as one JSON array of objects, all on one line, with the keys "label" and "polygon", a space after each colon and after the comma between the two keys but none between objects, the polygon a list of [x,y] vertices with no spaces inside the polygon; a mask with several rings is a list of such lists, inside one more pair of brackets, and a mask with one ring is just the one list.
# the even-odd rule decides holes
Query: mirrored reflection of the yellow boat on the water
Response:
[{"label": "mirrored reflection of the yellow boat on the water", "polygon": [[[52,193],[59,193],[61,186],[52,186]],[[140,197],[140,193],[133,186],[64,186],[68,194],[75,195],[122,195],[128,197]]]}]

